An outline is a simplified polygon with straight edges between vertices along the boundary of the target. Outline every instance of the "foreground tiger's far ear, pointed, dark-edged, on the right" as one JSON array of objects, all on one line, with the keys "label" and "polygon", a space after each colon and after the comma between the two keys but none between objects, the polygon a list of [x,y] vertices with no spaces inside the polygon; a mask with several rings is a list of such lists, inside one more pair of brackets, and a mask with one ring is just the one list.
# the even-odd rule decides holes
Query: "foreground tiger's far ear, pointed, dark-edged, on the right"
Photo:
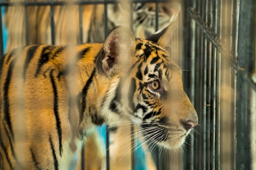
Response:
[{"label": "foreground tiger's far ear, pointed, dark-edged, on the right", "polygon": [[161,47],[165,48],[166,50],[169,50],[174,32],[175,22],[171,22],[169,26],[160,31],[157,31],[155,34],[148,37],[147,40],[153,41],[159,44]]}]

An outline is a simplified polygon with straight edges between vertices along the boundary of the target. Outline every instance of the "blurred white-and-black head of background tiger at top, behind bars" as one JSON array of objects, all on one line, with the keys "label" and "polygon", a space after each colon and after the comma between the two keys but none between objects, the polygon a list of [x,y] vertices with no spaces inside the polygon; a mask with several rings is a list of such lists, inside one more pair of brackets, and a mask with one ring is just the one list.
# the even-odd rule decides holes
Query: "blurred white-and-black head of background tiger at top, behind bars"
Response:
[{"label": "blurred white-and-black head of background tiger at top, behind bars", "polygon": [[124,18],[129,18],[130,11],[132,11],[133,32],[139,38],[146,38],[155,33],[156,17],[158,28],[163,29],[175,21],[177,14],[180,12],[179,2],[170,1],[158,3],[158,5],[137,2],[132,3],[132,6],[128,5],[127,2],[129,1],[122,0],[120,3],[108,5],[108,28],[117,25],[129,26]]}]

